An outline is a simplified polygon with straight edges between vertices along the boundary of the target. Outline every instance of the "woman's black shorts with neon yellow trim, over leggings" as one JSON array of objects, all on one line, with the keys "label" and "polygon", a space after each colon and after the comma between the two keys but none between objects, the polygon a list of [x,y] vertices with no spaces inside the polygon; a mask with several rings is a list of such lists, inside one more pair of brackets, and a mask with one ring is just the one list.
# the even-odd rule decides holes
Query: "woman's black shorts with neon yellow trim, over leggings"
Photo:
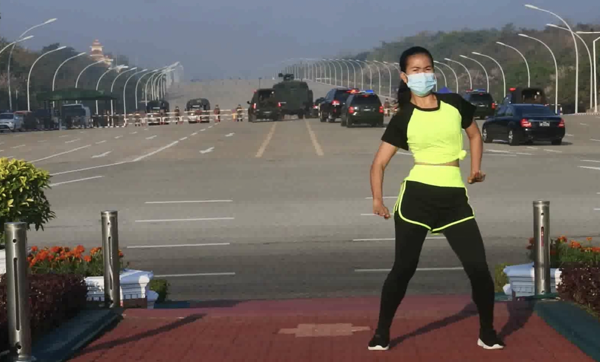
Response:
[{"label": "woman's black shorts with neon yellow trim, over leggings", "polygon": [[395,216],[432,233],[475,218],[466,188],[442,187],[405,180],[394,207]]}]

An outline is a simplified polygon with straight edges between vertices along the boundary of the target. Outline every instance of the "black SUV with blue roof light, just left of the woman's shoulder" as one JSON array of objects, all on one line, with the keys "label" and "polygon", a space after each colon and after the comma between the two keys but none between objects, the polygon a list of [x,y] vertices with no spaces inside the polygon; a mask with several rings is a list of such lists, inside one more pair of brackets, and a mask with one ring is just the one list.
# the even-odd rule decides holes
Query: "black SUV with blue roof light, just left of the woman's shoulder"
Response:
[{"label": "black SUV with blue roof light, just left of the woman's shoulder", "polygon": [[341,126],[348,128],[357,124],[383,127],[383,105],[375,93],[353,93],[341,108]]}]

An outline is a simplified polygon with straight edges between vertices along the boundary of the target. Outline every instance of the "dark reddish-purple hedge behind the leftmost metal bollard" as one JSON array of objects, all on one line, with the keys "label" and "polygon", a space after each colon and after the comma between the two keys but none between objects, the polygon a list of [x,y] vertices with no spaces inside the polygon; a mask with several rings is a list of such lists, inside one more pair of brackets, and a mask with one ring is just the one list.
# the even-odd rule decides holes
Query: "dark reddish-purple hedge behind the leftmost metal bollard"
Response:
[{"label": "dark reddish-purple hedge behind the leftmost metal bollard", "polygon": [[[8,345],[7,278],[0,279],[0,351]],[[86,286],[83,277],[76,274],[35,274],[29,276],[31,295],[32,338],[47,333],[72,318],[86,304]]]}]

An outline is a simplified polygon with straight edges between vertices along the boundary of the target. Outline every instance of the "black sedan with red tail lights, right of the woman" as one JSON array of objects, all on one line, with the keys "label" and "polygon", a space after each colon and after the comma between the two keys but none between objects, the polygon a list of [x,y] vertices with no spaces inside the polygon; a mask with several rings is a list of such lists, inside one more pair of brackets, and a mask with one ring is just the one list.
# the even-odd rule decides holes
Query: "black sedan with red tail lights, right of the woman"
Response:
[{"label": "black sedan with red tail lights, right of the woman", "polygon": [[547,105],[502,105],[481,126],[481,137],[485,143],[502,140],[511,146],[534,141],[561,144],[565,137],[565,120]]}]

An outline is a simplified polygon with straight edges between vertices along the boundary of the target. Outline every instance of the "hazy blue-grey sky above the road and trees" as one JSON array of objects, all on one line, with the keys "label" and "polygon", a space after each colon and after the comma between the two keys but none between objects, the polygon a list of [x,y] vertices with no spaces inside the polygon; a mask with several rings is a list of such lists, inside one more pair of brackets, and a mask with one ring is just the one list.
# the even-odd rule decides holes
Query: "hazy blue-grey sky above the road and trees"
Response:
[{"label": "hazy blue-grey sky above the road and trees", "polygon": [[[531,0],[572,23],[600,23],[600,0]],[[89,51],[94,39],[107,52],[141,67],[181,61],[185,78],[262,76],[288,58],[368,50],[419,31],[555,22],[518,0],[2,0],[0,34],[17,37],[38,28],[30,49],[59,42]],[[368,5],[359,5],[368,4]],[[459,5],[460,4],[460,5]],[[276,68],[276,67],[275,67]]]}]

